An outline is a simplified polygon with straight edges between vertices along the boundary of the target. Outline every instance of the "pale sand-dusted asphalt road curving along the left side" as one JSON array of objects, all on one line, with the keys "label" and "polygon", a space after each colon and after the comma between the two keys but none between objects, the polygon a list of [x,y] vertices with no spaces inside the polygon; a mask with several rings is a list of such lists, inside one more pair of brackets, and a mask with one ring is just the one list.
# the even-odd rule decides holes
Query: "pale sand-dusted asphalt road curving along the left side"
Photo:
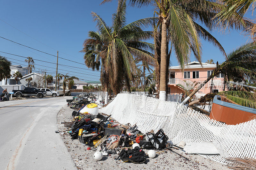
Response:
[{"label": "pale sand-dusted asphalt road curving along the left side", "polygon": [[57,130],[70,97],[0,102],[0,169],[76,169]]}]

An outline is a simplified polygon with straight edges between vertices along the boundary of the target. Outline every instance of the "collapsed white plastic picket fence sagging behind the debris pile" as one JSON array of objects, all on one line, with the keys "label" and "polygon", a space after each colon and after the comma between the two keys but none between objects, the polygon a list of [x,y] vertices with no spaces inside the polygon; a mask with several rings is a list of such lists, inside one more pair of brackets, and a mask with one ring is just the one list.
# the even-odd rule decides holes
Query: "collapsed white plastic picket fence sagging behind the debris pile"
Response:
[{"label": "collapsed white plastic picket fence sagging behind the debris pile", "polygon": [[[256,121],[226,125],[210,119],[177,102],[161,101],[152,97],[120,93],[100,112],[112,115],[120,123],[137,124],[143,133],[162,128],[169,141],[217,141],[230,157],[256,158]],[[226,164],[219,155],[202,155]]]}]

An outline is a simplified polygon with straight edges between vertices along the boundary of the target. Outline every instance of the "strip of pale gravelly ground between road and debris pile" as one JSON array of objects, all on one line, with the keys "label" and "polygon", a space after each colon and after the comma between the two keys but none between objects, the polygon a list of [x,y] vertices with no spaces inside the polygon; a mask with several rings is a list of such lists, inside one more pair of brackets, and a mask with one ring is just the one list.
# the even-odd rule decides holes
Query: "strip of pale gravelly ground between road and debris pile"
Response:
[{"label": "strip of pale gravelly ground between road and debris pile", "polygon": [[[58,128],[60,132],[65,132],[67,129],[61,122],[69,122],[72,120],[71,113],[73,109],[65,106],[62,107],[58,114]],[[60,133],[61,135],[61,133]],[[186,155],[184,152],[183,156],[187,157],[189,161],[183,159],[182,157],[170,152],[161,152],[156,155],[154,159],[147,158],[145,164],[133,164],[126,163],[122,160],[115,160],[117,155],[103,156],[100,161],[93,159],[94,150],[87,150],[87,146],[84,146],[77,139],[71,140],[68,134],[61,135],[64,144],[67,146],[68,151],[71,154],[78,169],[88,169],[88,170],[114,170],[114,169],[170,169],[170,170],[190,170],[190,169],[212,169],[212,170],[226,170],[229,169],[227,166],[212,161],[210,159],[205,159],[199,155]],[[143,149],[144,150],[144,149]],[[148,150],[144,150],[145,153]],[[179,150],[174,149],[175,152]]]}]

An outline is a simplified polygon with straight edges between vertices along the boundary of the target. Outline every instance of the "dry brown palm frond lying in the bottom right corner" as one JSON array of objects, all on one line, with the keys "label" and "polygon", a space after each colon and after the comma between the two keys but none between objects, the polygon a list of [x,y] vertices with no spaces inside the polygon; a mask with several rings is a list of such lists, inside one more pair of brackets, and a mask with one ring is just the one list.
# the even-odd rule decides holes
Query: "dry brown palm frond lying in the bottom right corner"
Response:
[{"label": "dry brown palm frond lying in the bottom right corner", "polygon": [[228,167],[235,170],[256,170],[254,158],[228,158]]}]

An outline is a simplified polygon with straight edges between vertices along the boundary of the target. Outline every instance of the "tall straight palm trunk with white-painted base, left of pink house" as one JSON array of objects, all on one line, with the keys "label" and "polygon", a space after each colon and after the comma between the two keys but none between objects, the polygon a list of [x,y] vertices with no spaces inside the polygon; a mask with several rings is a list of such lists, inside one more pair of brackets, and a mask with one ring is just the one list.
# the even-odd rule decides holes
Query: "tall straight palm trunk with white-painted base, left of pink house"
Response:
[{"label": "tall straight palm trunk with white-painted base, left of pink house", "polygon": [[161,39],[161,63],[160,63],[160,92],[159,99],[166,101],[166,61],[167,59],[167,23],[162,21],[162,39]]}]

